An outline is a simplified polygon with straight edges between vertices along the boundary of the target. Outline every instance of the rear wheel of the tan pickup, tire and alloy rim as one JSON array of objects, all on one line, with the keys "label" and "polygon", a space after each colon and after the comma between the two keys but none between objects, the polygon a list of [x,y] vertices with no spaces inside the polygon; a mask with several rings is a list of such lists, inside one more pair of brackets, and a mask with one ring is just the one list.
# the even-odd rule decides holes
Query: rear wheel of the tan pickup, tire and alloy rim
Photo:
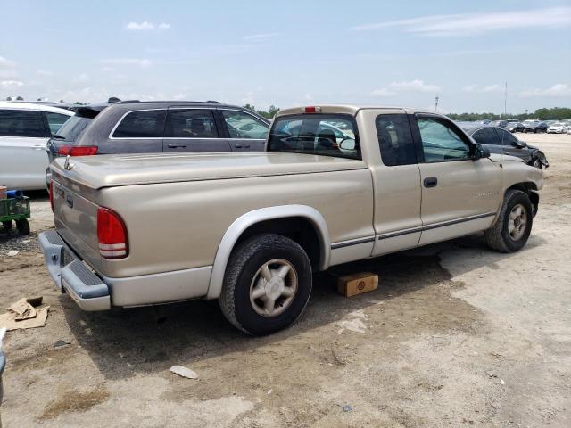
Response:
[{"label": "rear wheel of the tan pickup, tire and alloy rim", "polygon": [[[280,282],[277,274],[285,272],[285,267],[287,274],[282,274]],[[310,259],[298,243],[282,235],[255,235],[241,243],[228,260],[220,309],[244,333],[275,333],[302,314],[310,299],[311,280]],[[259,292],[264,294],[255,297]],[[266,309],[267,301],[280,292],[284,294]]]}]

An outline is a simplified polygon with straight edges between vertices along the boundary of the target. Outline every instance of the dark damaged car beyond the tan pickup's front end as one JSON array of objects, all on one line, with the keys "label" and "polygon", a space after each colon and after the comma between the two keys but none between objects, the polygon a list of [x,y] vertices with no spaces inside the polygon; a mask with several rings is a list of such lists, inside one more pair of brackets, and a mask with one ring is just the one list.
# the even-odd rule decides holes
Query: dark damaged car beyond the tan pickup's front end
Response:
[{"label": "dark damaged car beyond the tan pickup's front end", "polygon": [[474,127],[465,129],[468,136],[474,138],[476,143],[484,144],[490,152],[516,156],[535,168],[548,168],[550,166],[545,153],[525,141],[518,140],[504,128]]}]

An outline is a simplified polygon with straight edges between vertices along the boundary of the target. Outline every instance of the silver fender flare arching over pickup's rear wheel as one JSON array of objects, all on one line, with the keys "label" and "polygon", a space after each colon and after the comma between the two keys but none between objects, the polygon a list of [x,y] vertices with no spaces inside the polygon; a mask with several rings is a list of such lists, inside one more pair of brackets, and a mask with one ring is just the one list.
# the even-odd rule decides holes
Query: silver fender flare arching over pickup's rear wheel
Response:
[{"label": "silver fender flare arching over pickup's rear wheel", "polygon": [[319,270],[326,270],[329,267],[329,259],[331,257],[331,242],[327,222],[318,210],[307,205],[280,205],[252,210],[236,218],[222,237],[218,251],[216,251],[214,265],[212,266],[206,299],[219,298],[230,254],[234,250],[236,242],[248,227],[265,220],[294,217],[306,218],[315,227],[319,236]]}]

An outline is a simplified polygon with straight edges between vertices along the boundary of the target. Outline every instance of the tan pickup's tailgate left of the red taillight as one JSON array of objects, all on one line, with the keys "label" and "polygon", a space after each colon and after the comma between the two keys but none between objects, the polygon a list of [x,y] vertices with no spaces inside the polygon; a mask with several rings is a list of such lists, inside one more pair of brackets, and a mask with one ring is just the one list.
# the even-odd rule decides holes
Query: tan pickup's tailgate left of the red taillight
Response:
[{"label": "tan pickup's tailgate left of the red taillight", "polygon": [[99,270],[97,204],[85,196],[83,186],[53,181],[54,223],[58,233],[87,263]]}]

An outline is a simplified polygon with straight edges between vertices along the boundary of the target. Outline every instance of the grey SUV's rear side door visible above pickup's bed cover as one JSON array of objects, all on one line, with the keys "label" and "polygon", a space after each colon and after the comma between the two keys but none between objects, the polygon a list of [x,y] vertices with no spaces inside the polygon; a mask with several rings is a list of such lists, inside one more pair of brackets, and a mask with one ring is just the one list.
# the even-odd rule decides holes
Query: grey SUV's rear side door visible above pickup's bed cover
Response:
[{"label": "grey SUV's rear side door visible above pickup's bed cover", "polygon": [[211,109],[170,107],[162,139],[163,152],[230,152]]}]

